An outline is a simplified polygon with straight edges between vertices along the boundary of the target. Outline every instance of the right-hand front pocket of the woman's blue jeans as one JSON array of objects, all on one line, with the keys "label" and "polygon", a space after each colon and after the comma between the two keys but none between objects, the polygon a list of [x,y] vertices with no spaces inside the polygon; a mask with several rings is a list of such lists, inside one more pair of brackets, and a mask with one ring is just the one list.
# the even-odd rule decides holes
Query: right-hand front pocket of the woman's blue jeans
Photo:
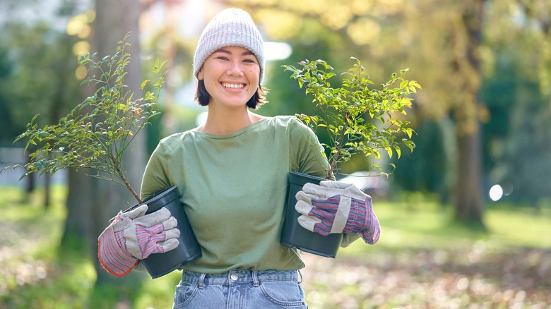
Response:
[{"label": "right-hand front pocket of the woman's blue jeans", "polygon": [[290,308],[306,308],[304,291],[297,281],[262,281],[260,289],[271,303]]}]

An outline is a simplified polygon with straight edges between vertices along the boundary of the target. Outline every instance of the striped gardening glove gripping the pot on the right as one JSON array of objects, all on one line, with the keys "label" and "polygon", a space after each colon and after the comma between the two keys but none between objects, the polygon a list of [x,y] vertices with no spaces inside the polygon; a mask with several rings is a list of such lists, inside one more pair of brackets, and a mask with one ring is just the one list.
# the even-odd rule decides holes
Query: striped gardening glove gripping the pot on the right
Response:
[{"label": "striped gardening glove gripping the pot on the right", "polygon": [[381,226],[371,197],[356,186],[340,181],[306,183],[297,195],[299,224],[318,234],[360,234],[366,243],[379,241]]}]

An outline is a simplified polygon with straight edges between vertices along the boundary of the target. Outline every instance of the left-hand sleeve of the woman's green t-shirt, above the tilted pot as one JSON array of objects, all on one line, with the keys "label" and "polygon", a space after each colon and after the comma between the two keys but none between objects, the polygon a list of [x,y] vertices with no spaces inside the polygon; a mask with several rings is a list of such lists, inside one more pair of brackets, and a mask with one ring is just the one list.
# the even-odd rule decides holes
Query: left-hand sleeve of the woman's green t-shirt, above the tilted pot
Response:
[{"label": "left-hand sleeve of the woman's green t-shirt, above the tilted pot", "polygon": [[170,187],[167,171],[167,155],[162,143],[159,143],[151,154],[146,171],[143,173],[140,190],[142,199]]}]

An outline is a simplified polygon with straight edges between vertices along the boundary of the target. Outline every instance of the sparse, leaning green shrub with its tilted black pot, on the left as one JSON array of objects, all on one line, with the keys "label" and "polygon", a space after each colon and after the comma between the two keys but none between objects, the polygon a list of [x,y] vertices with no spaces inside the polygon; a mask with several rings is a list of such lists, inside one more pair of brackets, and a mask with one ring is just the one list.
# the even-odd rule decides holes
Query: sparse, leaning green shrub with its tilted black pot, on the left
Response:
[{"label": "sparse, leaning green shrub with its tilted black pot, on the left", "polygon": [[[97,54],[81,56],[79,64],[88,66],[88,78],[81,85],[95,87],[93,95],[78,104],[68,115],[59,119],[57,124],[40,127],[34,116],[27,124],[27,130],[17,140],[26,139],[25,150],[30,145],[38,150],[30,154],[30,162],[25,164],[25,173],[54,174],[60,169],[92,169],[97,178],[114,181],[127,188],[136,201],[134,207],[148,204],[148,212],[167,207],[177,218],[180,229],[179,246],[167,253],[152,254],[142,261],[151,277],[156,278],[177,269],[186,260],[192,260],[201,254],[199,244],[191,231],[184,208],[179,202],[176,186],[155,193],[141,200],[126,177],[123,166],[124,152],[132,150],[133,141],[149,119],[158,114],[154,110],[160,90],[165,82],[166,72],[162,73],[163,63],[155,61],[153,72],[158,80],[150,85],[153,91],[147,91],[149,80],[140,87],[141,97],[126,90],[124,85],[125,68],[129,64],[130,54],[125,51],[129,35],[119,41],[117,52],[96,60]],[[92,75],[97,72],[100,76]],[[91,76],[90,76],[91,75]],[[87,111],[88,110],[88,111]],[[19,167],[7,166],[4,169]],[[101,173],[100,173],[101,172]],[[126,211],[129,211],[126,210]]]}]

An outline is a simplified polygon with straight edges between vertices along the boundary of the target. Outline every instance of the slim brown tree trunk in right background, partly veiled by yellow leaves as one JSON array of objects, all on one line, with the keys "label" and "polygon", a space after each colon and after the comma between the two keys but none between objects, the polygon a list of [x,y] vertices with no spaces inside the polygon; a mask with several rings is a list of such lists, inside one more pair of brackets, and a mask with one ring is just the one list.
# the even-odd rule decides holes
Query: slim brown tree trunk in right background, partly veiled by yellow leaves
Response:
[{"label": "slim brown tree trunk in right background, partly veiled by yellow leaves", "polygon": [[[455,190],[456,219],[484,227],[482,221],[482,146],[480,133],[480,44],[484,0],[463,3],[463,23],[466,30],[466,65],[463,71],[465,102],[456,107],[458,169]],[[462,61],[458,61],[461,63]],[[466,74],[469,72],[471,74]]]}]

